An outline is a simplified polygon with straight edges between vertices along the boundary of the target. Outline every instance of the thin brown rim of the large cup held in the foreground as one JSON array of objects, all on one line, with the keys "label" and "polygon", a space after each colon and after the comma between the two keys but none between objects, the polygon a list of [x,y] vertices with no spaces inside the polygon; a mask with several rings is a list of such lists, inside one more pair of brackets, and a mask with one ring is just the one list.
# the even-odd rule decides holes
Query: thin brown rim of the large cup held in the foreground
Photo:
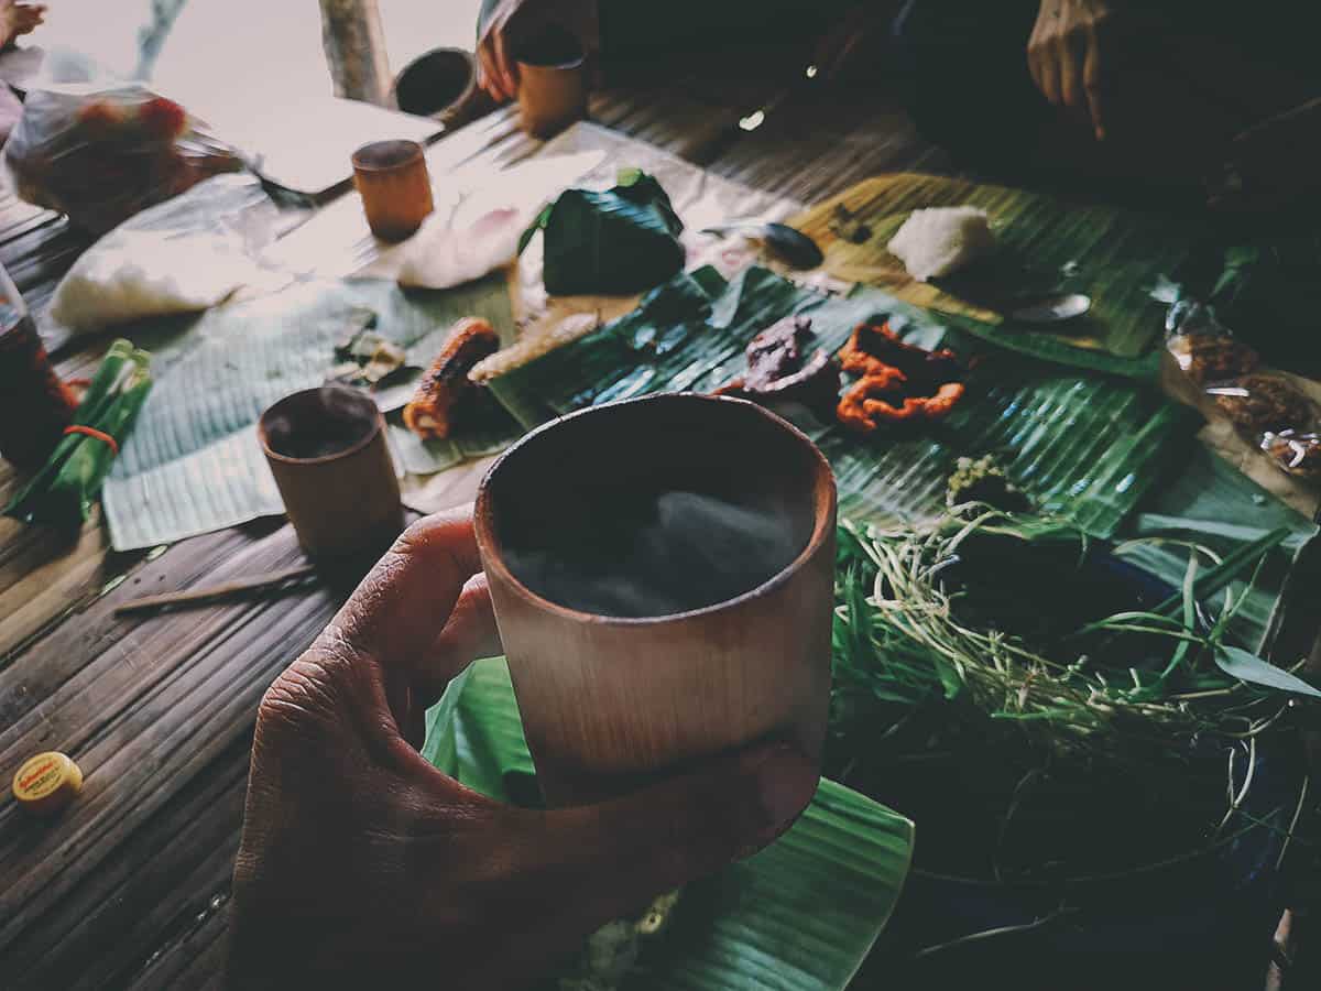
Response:
[{"label": "thin brown rim of the large cup held in the foreground", "polygon": [[[538,595],[530,589],[514,572],[510,569],[509,564],[499,550],[499,540],[495,536],[494,525],[494,510],[491,509],[493,495],[490,493],[491,480],[495,473],[499,472],[501,465],[506,462],[507,459],[518,453],[518,451],[524,445],[531,443],[539,435],[553,429],[569,420],[575,420],[580,416],[592,416],[596,414],[605,412],[617,406],[637,406],[641,403],[659,403],[659,402],[672,402],[675,399],[682,399],[684,402],[707,402],[707,403],[721,403],[721,404],[740,404],[748,407],[758,416],[765,419],[773,427],[790,433],[795,440],[798,440],[807,451],[811,452],[812,462],[816,466],[816,480],[826,480],[827,499],[823,506],[815,509],[812,521],[812,534],[807,540],[807,544],[799,551],[791,562],[785,567],[771,575],[769,579],[762,581],[760,585],[753,585],[746,592],[741,592],[733,599],[724,599],[719,603],[712,603],[711,605],[704,605],[697,609],[688,609],[679,613],[664,613],[662,616],[605,616],[601,613],[583,612],[581,609],[573,609],[567,605],[560,605],[544,596]],[[814,480],[814,488],[816,486],[816,480]],[[822,550],[827,540],[834,538],[835,530],[835,515],[838,511],[839,495],[835,485],[835,473],[830,466],[830,461],[826,455],[822,453],[820,448],[812,443],[811,437],[798,429],[794,424],[782,416],[771,412],[758,403],[753,403],[748,399],[737,399],[734,396],[716,396],[707,395],[705,392],[658,392],[655,395],[637,396],[633,399],[620,399],[613,403],[602,403],[601,406],[589,406],[585,410],[576,410],[575,412],[565,414],[564,416],[557,416],[553,420],[548,420],[535,429],[524,433],[518,439],[510,448],[507,448],[482,476],[482,481],[477,489],[477,501],[473,506],[473,526],[477,532],[477,547],[481,552],[482,568],[483,571],[494,569],[499,579],[514,591],[514,593],[522,599],[528,605],[532,605],[540,610],[552,613],[564,620],[572,620],[583,624],[592,624],[596,626],[657,626],[660,624],[674,624],[684,620],[699,618],[709,616],[713,613],[728,610],[733,606],[741,605],[744,603],[752,601],[754,599],[764,599],[765,596],[778,591],[786,585],[802,568]]]}]

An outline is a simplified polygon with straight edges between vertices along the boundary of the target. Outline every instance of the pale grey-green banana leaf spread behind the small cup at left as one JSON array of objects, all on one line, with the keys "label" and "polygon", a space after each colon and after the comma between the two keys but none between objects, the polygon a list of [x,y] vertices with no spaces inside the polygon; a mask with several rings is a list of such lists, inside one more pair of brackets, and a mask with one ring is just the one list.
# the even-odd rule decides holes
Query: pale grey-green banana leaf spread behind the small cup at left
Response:
[{"label": "pale grey-green banana leaf spread behind the small cup at left", "polygon": [[[112,546],[155,547],[283,513],[255,424],[277,399],[326,379],[336,345],[363,309],[419,367],[431,363],[460,317],[513,326],[499,276],[444,292],[374,280],[306,281],[209,311],[169,341],[153,342],[156,387],[104,486]],[[407,462],[439,470],[515,435],[517,424],[495,415],[472,436],[410,449]]]}]

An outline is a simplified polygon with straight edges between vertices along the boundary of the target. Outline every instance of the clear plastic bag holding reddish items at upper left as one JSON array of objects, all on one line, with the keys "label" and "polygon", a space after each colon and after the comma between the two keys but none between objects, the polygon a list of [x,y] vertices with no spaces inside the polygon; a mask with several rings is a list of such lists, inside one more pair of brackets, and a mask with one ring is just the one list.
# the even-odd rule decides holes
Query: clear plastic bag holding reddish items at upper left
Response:
[{"label": "clear plastic bag holding reddish items at upper left", "polygon": [[94,234],[240,168],[201,122],[139,83],[33,89],[5,161],[21,198]]}]

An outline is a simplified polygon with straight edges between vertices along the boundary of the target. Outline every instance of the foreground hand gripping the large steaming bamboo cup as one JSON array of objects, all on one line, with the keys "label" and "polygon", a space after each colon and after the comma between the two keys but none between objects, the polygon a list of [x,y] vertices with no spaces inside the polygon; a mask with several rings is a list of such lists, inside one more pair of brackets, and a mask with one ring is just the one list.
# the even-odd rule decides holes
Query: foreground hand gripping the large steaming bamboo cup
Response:
[{"label": "foreground hand gripping the large steaming bamboo cup", "polygon": [[816,788],[757,747],[602,805],[513,809],[415,749],[498,653],[469,513],[410,527],[267,691],[234,868],[230,984],[481,991],[543,976],[600,925],[769,843]]}]

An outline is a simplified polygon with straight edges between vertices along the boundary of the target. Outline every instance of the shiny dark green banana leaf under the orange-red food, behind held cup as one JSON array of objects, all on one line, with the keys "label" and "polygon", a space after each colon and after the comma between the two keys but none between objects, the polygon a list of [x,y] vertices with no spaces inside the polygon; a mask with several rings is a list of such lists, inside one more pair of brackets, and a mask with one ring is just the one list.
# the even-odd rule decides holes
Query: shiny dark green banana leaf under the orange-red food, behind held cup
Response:
[{"label": "shiny dark green banana leaf under the orange-red food, behind held cup", "polygon": [[[753,334],[790,313],[811,316],[827,350],[841,346],[859,321],[882,316],[925,348],[945,344],[964,357],[987,350],[877,289],[831,299],[765,268],[746,268],[729,283],[700,268],[655,289],[633,313],[493,379],[490,390],[524,427],[647,392],[711,391],[742,371]],[[995,349],[982,357],[960,406],[921,431],[860,439],[782,411],[831,460],[843,513],[876,523],[934,515],[955,461],[993,452],[1041,509],[1111,536],[1193,447],[1196,415],[1153,388]]]}]

